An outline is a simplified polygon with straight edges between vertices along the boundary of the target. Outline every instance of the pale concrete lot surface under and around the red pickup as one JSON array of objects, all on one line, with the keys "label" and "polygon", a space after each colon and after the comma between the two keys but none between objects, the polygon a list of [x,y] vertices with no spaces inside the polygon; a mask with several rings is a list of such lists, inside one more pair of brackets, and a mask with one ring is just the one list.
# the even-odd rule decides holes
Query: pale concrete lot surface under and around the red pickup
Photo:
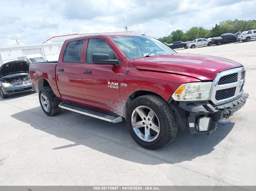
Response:
[{"label": "pale concrete lot surface under and around the red pickup", "polygon": [[150,151],[133,141],[125,122],[64,109],[48,117],[34,92],[0,97],[0,185],[256,185],[256,41],[177,52],[247,68],[249,99],[217,132],[178,130],[170,145]]}]

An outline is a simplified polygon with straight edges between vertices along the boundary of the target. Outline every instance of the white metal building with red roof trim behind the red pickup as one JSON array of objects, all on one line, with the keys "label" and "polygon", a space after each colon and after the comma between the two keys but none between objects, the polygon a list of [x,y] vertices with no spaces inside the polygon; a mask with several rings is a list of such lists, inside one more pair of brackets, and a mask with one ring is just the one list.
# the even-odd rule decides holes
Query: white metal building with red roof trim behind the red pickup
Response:
[{"label": "white metal building with red roof trim behind the red pickup", "polygon": [[[125,34],[133,34],[133,30],[125,31]],[[58,60],[62,44],[66,39],[97,35],[97,34],[124,34],[122,32],[102,32],[102,33],[75,33],[62,36],[51,37],[42,44],[33,45],[17,45],[0,47],[0,65],[6,62],[16,60],[19,56],[26,56],[29,54],[41,54],[48,61]]]}]

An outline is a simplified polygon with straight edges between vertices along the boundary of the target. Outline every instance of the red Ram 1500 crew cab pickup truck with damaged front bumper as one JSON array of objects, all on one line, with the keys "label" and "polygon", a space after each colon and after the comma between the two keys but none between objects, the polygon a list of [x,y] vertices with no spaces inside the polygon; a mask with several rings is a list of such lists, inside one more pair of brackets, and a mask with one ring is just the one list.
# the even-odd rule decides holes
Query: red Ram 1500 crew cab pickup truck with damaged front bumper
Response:
[{"label": "red Ram 1500 crew cab pickup truck with damaged front bumper", "polygon": [[245,69],[232,60],[179,54],[141,35],[68,39],[58,62],[30,64],[32,88],[48,116],[61,108],[117,123],[126,119],[144,148],[169,144],[188,128],[215,132],[244,106]]}]

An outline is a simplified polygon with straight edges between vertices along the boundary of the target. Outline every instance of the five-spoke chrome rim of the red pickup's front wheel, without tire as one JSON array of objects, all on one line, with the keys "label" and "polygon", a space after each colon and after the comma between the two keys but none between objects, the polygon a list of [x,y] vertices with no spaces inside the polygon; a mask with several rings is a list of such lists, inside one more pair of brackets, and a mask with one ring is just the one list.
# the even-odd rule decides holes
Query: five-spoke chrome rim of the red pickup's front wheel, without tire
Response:
[{"label": "five-spoke chrome rim of the red pickup's front wheel, without tire", "polygon": [[160,132],[156,113],[147,106],[136,107],[131,115],[131,125],[135,134],[146,142],[154,141]]}]

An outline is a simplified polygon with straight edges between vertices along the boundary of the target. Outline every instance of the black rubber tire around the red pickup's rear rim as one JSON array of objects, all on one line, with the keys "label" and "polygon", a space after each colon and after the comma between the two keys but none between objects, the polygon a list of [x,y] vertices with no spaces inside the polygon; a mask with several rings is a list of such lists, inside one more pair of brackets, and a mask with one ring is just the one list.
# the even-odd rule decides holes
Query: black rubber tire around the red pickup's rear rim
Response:
[{"label": "black rubber tire around the red pickup's rear rim", "polygon": [[[46,111],[42,105],[42,102],[41,102],[41,94],[44,94],[47,98],[48,98],[48,103],[50,105],[50,110],[49,111]],[[45,112],[46,115],[48,116],[54,116],[54,115],[57,115],[58,113],[60,113],[61,111],[61,108],[58,107],[58,105],[61,103],[60,100],[58,100],[53,91],[52,91],[52,88],[50,86],[47,86],[47,87],[43,87],[40,91],[39,91],[39,102],[40,102],[40,105],[42,107],[42,110]]]}]

